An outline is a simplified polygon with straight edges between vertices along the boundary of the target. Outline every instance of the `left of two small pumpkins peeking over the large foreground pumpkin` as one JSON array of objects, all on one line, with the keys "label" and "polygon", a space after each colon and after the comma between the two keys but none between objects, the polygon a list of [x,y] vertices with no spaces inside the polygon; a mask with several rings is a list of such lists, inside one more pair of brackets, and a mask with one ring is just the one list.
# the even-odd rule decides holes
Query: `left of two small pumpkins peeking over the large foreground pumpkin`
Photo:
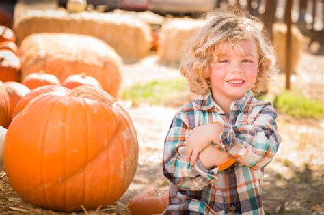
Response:
[{"label": "left of two small pumpkins peeking over the large foreground pumpkin", "polygon": [[29,89],[35,89],[45,85],[61,85],[59,79],[53,74],[45,74],[44,71],[31,73],[21,82]]}]

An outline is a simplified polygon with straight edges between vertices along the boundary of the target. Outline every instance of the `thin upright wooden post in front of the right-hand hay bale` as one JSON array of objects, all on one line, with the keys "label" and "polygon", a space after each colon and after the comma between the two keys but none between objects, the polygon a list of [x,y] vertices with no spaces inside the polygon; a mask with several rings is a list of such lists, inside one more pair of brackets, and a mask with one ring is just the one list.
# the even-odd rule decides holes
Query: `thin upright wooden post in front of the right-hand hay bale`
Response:
[{"label": "thin upright wooden post in front of the right-hand hay bale", "polygon": [[292,0],[287,0],[286,3],[286,89],[291,89],[291,5]]}]

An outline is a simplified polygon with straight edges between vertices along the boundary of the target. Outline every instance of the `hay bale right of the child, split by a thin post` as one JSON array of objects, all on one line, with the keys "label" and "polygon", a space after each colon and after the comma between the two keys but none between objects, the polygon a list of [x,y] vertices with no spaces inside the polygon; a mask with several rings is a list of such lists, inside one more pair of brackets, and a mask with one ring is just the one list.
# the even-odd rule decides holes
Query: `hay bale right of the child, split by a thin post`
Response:
[{"label": "hay bale right of the child, split by a thin post", "polygon": [[[287,28],[284,23],[273,24],[273,46],[277,53],[278,66],[281,71],[286,68],[286,35]],[[303,43],[305,38],[295,26],[291,26],[291,71],[296,72],[298,63],[303,52]]]}]

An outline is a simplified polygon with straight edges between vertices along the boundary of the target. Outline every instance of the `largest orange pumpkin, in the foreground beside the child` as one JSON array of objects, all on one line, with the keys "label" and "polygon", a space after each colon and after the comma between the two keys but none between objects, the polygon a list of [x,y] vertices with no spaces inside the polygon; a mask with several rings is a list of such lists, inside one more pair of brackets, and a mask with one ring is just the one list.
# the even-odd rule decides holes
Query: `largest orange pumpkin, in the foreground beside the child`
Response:
[{"label": "largest orange pumpkin, in the foreground beside the child", "polygon": [[4,144],[14,190],[51,210],[113,203],[137,169],[137,135],[129,115],[95,87],[37,96],[14,118]]}]

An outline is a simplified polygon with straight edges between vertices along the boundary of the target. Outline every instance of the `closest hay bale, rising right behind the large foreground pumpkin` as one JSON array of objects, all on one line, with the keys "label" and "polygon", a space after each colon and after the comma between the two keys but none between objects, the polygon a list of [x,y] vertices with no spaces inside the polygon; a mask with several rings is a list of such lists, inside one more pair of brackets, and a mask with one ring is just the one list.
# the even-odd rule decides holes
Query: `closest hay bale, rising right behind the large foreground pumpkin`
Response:
[{"label": "closest hay bale, rising right behind the large foreground pumpkin", "polygon": [[96,78],[105,91],[118,96],[121,59],[108,44],[98,38],[68,33],[36,33],[23,40],[22,78],[44,70],[63,82],[72,74],[84,72]]}]

